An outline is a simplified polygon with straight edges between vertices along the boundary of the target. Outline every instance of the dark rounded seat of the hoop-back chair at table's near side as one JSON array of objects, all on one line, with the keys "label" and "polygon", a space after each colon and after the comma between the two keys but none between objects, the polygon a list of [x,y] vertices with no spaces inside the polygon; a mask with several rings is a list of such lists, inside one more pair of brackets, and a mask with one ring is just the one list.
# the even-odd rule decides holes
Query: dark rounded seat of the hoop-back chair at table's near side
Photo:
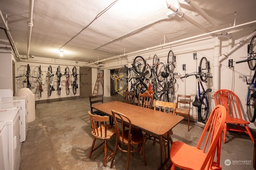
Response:
[{"label": "dark rounded seat of the hoop-back chair at table's near side", "polygon": [[[128,144],[128,133],[129,130],[124,130],[124,143]],[[132,144],[139,144],[141,140],[144,138],[144,134],[138,130],[131,130],[132,138],[131,143]],[[122,135],[120,135],[120,140],[122,140]]]}]

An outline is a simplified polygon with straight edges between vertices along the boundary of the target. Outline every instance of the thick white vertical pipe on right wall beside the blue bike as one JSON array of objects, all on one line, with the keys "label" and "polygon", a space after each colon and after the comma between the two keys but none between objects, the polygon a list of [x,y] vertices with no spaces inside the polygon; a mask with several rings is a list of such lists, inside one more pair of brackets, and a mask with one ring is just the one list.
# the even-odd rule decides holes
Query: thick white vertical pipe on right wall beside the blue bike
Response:
[{"label": "thick white vertical pipe on right wall beside the blue bike", "polygon": [[212,77],[212,87],[215,93],[220,89],[220,62],[219,57],[221,55],[221,41],[218,37],[215,37],[214,42],[214,55],[213,55],[213,77]]}]

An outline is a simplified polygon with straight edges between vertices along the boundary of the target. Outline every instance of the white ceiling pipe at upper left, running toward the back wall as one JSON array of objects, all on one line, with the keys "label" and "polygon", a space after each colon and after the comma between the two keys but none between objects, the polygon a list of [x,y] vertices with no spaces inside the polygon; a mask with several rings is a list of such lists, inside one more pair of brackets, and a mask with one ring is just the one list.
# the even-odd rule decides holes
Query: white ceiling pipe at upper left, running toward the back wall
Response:
[{"label": "white ceiling pipe at upper left, running toward the back wall", "polygon": [[33,8],[34,0],[29,1],[29,14],[28,14],[28,39],[27,39],[27,58],[29,57],[31,33],[33,27]]}]

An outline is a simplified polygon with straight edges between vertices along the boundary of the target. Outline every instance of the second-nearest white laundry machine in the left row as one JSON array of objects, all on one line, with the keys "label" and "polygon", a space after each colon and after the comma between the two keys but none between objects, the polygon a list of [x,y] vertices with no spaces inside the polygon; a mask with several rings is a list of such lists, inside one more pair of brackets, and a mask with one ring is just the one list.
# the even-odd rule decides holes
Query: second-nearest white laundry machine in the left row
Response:
[{"label": "second-nearest white laundry machine in the left row", "polygon": [[20,168],[20,112],[19,109],[0,110],[0,121],[5,122],[8,139],[8,169]]}]

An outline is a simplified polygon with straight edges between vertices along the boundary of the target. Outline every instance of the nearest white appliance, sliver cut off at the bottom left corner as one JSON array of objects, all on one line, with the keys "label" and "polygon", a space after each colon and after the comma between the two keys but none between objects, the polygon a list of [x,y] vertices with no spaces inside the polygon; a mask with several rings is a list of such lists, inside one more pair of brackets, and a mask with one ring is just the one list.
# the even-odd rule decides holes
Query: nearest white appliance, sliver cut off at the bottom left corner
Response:
[{"label": "nearest white appliance, sliver cut off at the bottom left corner", "polygon": [[0,170],[8,170],[8,135],[5,122],[0,122]]}]

